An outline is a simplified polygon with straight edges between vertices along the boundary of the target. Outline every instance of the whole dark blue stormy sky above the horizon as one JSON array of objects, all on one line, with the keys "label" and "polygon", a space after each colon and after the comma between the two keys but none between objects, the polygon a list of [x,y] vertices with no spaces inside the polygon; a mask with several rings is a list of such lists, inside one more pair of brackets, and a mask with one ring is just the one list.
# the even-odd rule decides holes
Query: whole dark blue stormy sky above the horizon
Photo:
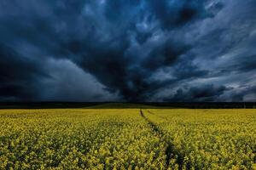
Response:
[{"label": "whole dark blue stormy sky above the horizon", "polygon": [[255,100],[255,0],[0,1],[0,101]]}]

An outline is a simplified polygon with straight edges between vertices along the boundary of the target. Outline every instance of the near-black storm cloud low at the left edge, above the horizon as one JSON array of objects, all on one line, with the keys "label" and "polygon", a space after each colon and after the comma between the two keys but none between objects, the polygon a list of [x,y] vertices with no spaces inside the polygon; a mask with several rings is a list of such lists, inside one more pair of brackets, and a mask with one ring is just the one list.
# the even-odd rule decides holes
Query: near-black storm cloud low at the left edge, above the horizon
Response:
[{"label": "near-black storm cloud low at the left edge, above the horizon", "polygon": [[36,98],[38,82],[48,77],[38,61],[27,59],[3,44],[0,44],[0,54],[0,101]]}]

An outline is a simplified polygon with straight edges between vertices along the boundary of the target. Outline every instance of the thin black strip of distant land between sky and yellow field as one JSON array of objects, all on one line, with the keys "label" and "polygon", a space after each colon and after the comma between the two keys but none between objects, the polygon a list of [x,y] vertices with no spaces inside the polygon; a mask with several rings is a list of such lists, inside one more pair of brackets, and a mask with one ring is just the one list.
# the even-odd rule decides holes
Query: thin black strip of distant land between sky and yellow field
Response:
[{"label": "thin black strip of distant land between sky and yellow field", "polygon": [[61,108],[188,108],[188,109],[256,109],[256,102],[2,102],[0,109],[61,109]]}]

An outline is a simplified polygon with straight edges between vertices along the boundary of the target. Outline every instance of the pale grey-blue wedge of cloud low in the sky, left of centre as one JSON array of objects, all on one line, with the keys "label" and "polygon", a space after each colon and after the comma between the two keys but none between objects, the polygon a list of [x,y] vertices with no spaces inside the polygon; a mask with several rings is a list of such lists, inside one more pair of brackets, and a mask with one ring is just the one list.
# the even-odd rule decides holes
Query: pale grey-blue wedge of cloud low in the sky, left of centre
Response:
[{"label": "pale grey-blue wedge of cloud low in the sky, left of centre", "polygon": [[41,99],[50,101],[115,101],[119,97],[104,90],[95,77],[67,59],[49,59],[51,78],[44,81]]}]

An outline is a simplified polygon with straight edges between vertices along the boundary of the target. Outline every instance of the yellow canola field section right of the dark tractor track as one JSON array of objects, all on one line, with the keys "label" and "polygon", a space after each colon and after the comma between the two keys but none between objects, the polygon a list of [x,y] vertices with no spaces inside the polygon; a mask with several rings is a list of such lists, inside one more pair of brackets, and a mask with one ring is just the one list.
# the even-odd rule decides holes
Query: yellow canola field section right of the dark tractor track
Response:
[{"label": "yellow canola field section right of the dark tractor track", "polygon": [[144,111],[172,146],[175,169],[256,169],[256,110]]}]

